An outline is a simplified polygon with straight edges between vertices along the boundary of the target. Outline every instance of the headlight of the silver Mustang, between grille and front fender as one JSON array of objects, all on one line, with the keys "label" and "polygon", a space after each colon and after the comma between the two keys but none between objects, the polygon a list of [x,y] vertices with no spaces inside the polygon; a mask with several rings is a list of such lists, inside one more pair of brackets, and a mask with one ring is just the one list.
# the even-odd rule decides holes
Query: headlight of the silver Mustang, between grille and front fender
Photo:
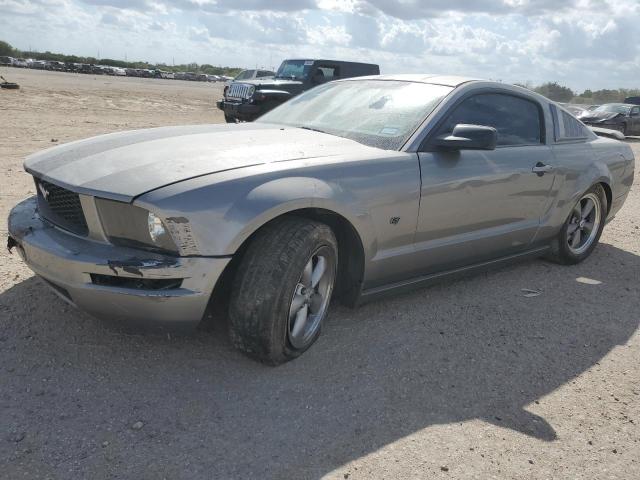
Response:
[{"label": "headlight of the silver Mustang, between grille and front fender", "polygon": [[114,245],[178,253],[171,234],[155,213],[128,203],[96,198],[105,235]]}]

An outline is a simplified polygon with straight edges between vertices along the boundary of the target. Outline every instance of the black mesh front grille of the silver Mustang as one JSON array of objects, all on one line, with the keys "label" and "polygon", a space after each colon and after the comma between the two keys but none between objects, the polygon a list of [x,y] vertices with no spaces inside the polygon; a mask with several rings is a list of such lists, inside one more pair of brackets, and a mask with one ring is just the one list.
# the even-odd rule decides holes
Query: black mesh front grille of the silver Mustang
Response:
[{"label": "black mesh front grille of the silver Mustang", "polygon": [[80,196],[53,183],[36,179],[38,211],[47,220],[77,235],[89,233]]}]

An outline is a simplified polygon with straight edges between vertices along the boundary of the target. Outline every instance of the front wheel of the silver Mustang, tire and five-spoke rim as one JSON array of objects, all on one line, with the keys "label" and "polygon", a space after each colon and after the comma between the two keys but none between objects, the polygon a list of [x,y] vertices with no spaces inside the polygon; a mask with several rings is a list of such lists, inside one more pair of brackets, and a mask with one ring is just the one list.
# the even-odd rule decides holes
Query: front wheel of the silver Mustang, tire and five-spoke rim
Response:
[{"label": "front wheel of the silver Mustang, tire and five-spoke rim", "polygon": [[229,302],[233,344],[271,365],[296,358],[318,338],[338,264],[336,238],[320,222],[283,217],[251,241]]}]

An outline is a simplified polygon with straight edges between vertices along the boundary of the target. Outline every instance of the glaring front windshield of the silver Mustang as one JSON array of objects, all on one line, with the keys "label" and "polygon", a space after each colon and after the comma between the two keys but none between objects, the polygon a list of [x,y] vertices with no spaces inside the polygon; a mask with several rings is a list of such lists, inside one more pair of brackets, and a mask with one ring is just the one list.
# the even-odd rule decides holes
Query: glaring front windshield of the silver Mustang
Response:
[{"label": "glaring front windshield of the silver Mustang", "polygon": [[371,147],[398,150],[451,90],[442,85],[403,81],[328,83],[289,100],[257,121],[317,130]]}]

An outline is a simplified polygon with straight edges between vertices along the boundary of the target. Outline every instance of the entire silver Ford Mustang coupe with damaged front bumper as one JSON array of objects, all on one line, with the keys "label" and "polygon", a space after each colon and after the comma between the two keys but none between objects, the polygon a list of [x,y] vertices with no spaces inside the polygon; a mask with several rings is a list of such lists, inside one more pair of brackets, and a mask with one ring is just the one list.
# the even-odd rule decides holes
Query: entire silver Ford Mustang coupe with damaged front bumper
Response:
[{"label": "entire silver Ford Mustang coupe with damaged front bumper", "polygon": [[628,145],[522,88],[467,78],[328,83],[255,123],[103,135],[25,161],[9,248],[99,317],[200,321],[271,364],[332,297],[527,256],[578,263],[633,181]]}]

